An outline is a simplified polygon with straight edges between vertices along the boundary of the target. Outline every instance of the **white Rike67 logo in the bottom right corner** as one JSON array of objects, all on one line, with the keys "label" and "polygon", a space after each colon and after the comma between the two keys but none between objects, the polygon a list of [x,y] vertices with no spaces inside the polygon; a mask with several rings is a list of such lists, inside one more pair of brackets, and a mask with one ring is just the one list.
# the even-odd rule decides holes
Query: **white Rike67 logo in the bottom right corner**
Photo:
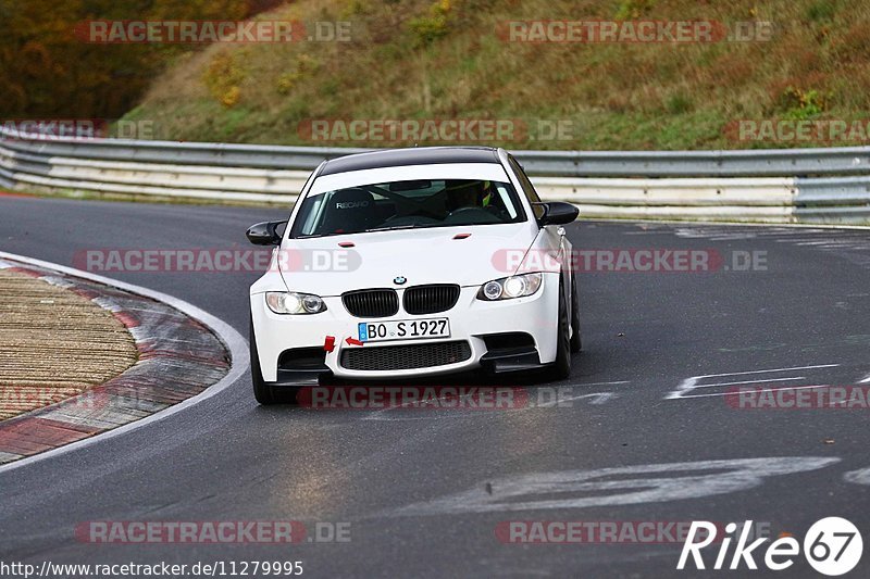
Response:
[{"label": "white Rike67 logo in the bottom right corner", "polygon": [[[755,556],[761,557],[761,550],[754,555],[754,551],[760,547],[770,539],[767,537],[749,542],[749,532],[753,521],[747,520],[741,528],[739,537],[735,531],[737,525],[730,523],[725,526],[725,538],[719,545],[719,553],[713,563],[713,569],[738,569],[745,564],[746,568],[758,569]],[[696,538],[701,539],[696,542]],[[688,537],[683,544],[683,552],[680,554],[680,562],[676,568],[682,570],[686,567],[689,555],[696,569],[705,569],[705,562],[701,549],[710,545],[716,539],[716,525],[706,520],[693,521],[688,529]],[[732,539],[736,539],[736,545],[731,556],[728,567],[729,549]],[[809,565],[822,575],[837,576],[843,575],[858,565],[863,552],[863,540],[858,528],[850,521],[841,517],[826,517],[816,521],[804,537],[804,556]],[[794,565],[795,557],[800,554],[800,543],[794,537],[780,537],[763,550],[763,564],[768,569],[782,571]]]}]

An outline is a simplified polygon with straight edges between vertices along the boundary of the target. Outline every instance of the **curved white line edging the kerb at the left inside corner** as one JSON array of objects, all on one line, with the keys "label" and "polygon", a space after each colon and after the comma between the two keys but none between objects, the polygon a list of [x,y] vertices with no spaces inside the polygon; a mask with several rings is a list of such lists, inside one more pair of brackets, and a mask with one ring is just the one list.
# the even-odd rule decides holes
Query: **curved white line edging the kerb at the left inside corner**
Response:
[{"label": "curved white line edging the kerb at the left inside corner", "polygon": [[46,451],[39,454],[34,454],[33,456],[27,456],[26,458],[20,458],[13,463],[2,465],[0,466],[0,473],[7,473],[9,470],[21,468],[23,466],[30,465],[33,463],[42,461],[45,458],[51,458],[53,456],[58,456],[59,454],[64,454],[78,449],[83,449],[85,446],[89,446],[91,444],[101,442],[103,440],[119,437],[121,435],[129,432],[130,430],[140,428],[151,423],[162,420],[163,418],[167,418],[177,412],[182,412],[183,410],[192,406],[194,404],[198,404],[222,392],[223,390],[226,390],[248,369],[248,365],[250,364],[248,341],[245,338],[243,338],[241,335],[237,332],[232,326],[229,326],[229,324],[223,322],[222,319],[219,319],[217,317],[214,317],[213,315],[209,314],[203,310],[200,310],[196,305],[179,300],[178,298],[173,298],[172,295],[161,293],[159,291],[154,291],[148,288],[142,288],[140,286],[134,286],[133,284],[126,284],[124,281],[117,281],[116,279],[111,279],[108,277],[98,276],[89,272],[75,269],[74,267],[66,267],[51,262],[44,262],[41,260],[35,260],[33,257],[25,257],[23,255],[15,255],[14,253],[7,253],[4,251],[0,251],[0,259],[7,259],[15,262],[21,262],[27,265],[35,265],[37,267],[53,269],[62,274],[80,277],[83,279],[96,281],[98,284],[104,284],[107,286],[112,286],[117,289],[129,291],[130,293],[144,295],[146,298],[150,298],[152,300],[157,300],[159,302],[169,304],[175,307],[176,310],[184,312],[191,318],[204,324],[209,329],[211,329],[217,336],[220,340],[224,342],[224,344],[229,350],[229,354],[232,356],[229,373],[226,376],[224,376],[223,379],[221,379],[219,382],[210,386],[199,394],[188,398],[187,400],[182,401],[177,404],[174,404],[164,411],[160,411],[150,416],[146,416],[145,418],[136,420],[135,423],[128,423],[113,430],[109,430],[107,432],[102,432],[100,435],[96,435],[90,438],[79,440],[77,442],[72,442],[64,446],[59,446],[50,451]]}]

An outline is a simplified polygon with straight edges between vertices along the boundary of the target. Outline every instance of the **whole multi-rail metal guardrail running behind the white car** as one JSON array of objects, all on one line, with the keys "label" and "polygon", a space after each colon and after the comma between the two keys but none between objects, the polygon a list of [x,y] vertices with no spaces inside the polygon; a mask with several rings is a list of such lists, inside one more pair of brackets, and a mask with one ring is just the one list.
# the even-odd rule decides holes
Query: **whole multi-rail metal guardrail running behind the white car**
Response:
[{"label": "whole multi-rail metal guardrail running behind the white car", "polygon": [[[375,149],[13,135],[0,186],[288,203],[323,160]],[[542,197],[587,217],[870,223],[870,147],[515,151]]]}]

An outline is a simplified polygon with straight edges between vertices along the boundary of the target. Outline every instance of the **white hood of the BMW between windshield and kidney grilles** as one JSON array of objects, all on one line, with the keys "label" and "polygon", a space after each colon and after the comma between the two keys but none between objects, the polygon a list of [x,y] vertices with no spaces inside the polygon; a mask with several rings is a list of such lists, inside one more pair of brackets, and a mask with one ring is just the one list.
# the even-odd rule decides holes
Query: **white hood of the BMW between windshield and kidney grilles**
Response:
[{"label": "white hood of the BMW between windshield and kidney grilles", "polygon": [[[323,297],[424,284],[474,286],[511,275],[535,235],[520,223],[289,239],[278,269],[288,290]],[[353,247],[340,246],[348,243]],[[398,277],[406,282],[395,284]]]}]

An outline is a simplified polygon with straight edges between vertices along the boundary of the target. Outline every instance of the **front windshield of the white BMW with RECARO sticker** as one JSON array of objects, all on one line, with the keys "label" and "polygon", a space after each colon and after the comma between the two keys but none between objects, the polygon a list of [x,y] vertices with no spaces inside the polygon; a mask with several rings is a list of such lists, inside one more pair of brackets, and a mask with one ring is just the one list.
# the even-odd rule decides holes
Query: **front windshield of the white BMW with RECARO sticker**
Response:
[{"label": "front windshield of the white BMW with RECARO sticker", "polygon": [[523,221],[525,214],[508,182],[402,180],[308,196],[294,221],[290,236],[322,237]]}]

